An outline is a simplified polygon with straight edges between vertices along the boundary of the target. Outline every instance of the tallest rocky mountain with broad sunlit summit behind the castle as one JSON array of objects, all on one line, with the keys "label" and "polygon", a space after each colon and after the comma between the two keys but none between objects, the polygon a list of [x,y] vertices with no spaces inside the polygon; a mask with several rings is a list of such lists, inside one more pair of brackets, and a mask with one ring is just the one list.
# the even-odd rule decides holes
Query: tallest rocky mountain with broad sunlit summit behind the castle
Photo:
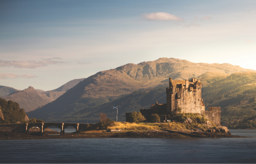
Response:
[{"label": "tallest rocky mountain with broad sunlit summit behind the castle", "polygon": [[[184,80],[198,77],[206,72],[228,76],[234,72],[245,71],[255,70],[247,70],[227,63],[192,63],[173,58],[160,58],[139,64],[129,63],[91,75],[52,103],[29,112],[28,115],[46,121],[57,120],[81,109],[112,102],[137,90],[167,86],[169,77],[174,80]],[[210,75],[207,76],[210,77]]]}]

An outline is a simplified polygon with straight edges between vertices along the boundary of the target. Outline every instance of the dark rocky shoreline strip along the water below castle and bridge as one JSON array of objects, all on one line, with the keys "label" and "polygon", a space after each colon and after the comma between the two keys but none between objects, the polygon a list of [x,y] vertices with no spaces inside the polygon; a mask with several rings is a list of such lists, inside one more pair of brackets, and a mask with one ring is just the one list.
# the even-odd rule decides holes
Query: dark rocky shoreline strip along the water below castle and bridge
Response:
[{"label": "dark rocky shoreline strip along the water below castle and bridge", "polygon": [[39,132],[25,134],[12,133],[0,131],[0,140],[9,139],[75,139],[75,138],[238,138],[240,136],[231,135],[230,133],[204,132],[194,131],[192,133],[185,133],[181,131],[168,130],[148,130],[148,131],[86,131],[74,132],[65,135],[51,135],[60,134],[57,131],[46,131],[45,136],[40,136]]}]

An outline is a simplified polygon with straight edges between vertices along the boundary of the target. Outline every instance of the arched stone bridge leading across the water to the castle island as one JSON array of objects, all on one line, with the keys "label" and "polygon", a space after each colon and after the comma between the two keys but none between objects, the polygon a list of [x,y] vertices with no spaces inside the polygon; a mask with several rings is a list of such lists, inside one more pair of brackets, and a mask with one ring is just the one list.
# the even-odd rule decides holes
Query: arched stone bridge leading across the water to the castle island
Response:
[{"label": "arched stone bridge leading across the water to the castle island", "polygon": [[29,133],[29,128],[39,127],[40,133],[44,135],[44,129],[50,126],[58,127],[61,130],[61,135],[65,134],[66,127],[74,127],[76,131],[83,130],[89,127],[92,124],[83,124],[83,123],[57,123],[57,122],[46,122],[46,123],[25,123],[25,124],[2,124],[0,125],[0,131],[9,131],[9,132],[27,132]]}]

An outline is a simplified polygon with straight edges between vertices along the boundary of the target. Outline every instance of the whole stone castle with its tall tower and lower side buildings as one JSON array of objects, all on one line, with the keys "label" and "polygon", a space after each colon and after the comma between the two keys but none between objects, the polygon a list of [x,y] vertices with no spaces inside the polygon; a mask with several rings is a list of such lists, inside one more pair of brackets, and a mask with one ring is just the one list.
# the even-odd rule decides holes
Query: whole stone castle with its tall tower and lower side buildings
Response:
[{"label": "whole stone castle with its tall tower and lower side buildings", "polygon": [[[169,78],[169,87],[166,88],[166,104],[158,104],[157,101],[150,109],[140,109],[141,114],[149,119],[151,114],[160,115],[161,121],[165,122],[166,114],[174,113],[178,108],[184,113],[205,114],[205,117],[216,125],[220,125],[220,107],[209,107],[205,111],[205,104],[202,99],[202,83],[200,80],[172,80]],[[126,113],[127,116],[130,115]],[[129,122],[129,120],[126,120]]]}]

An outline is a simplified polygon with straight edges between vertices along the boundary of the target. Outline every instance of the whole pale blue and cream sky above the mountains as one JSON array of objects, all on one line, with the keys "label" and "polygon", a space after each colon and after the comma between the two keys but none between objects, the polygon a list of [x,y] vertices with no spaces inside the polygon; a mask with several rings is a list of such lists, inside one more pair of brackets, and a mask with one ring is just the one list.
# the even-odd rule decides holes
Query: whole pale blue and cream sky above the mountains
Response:
[{"label": "whole pale blue and cream sky above the mountains", "polygon": [[255,0],[1,0],[0,85],[52,90],[161,57],[256,70]]}]

